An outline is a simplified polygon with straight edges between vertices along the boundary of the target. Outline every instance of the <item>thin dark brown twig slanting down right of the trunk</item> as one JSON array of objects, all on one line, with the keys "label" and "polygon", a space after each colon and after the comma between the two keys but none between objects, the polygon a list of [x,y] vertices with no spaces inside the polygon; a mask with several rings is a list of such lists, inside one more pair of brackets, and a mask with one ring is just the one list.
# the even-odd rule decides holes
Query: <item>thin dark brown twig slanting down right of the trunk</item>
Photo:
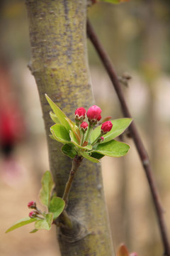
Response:
[{"label": "thin dark brown twig slanting down right of the trunk", "polygon": [[[111,78],[113,87],[115,88],[115,92],[117,93],[118,99],[120,100],[120,105],[121,105],[121,108],[123,111],[123,115],[125,117],[131,118],[131,114],[128,109],[128,105],[125,101],[125,97],[123,95],[123,90],[120,86],[118,76],[115,74],[115,70],[113,69],[113,64],[111,63],[111,60],[108,57],[106,51],[103,49],[103,46],[101,45],[100,41],[98,40],[98,37],[96,36],[96,33],[94,32],[94,28],[91,26],[91,23],[89,21],[87,21],[86,29],[87,29],[87,35],[89,36],[91,43],[93,43],[94,48],[96,49],[99,57],[101,58],[101,61],[104,65],[104,67],[106,68],[106,71],[107,71],[109,77]],[[149,188],[152,193],[152,198],[154,201],[154,206],[155,206],[155,210],[157,213],[157,219],[158,219],[158,223],[159,223],[159,229],[160,229],[160,233],[162,235],[162,242],[164,245],[164,255],[170,256],[170,246],[169,246],[169,240],[168,240],[168,235],[167,235],[167,231],[166,231],[166,224],[164,221],[163,208],[162,208],[162,204],[159,199],[159,193],[157,191],[157,187],[156,187],[154,177],[152,174],[152,167],[149,163],[149,157],[147,155],[145,146],[142,143],[140,134],[137,132],[137,128],[135,126],[134,121],[132,122],[132,124],[130,124],[129,130],[130,130],[131,137],[135,142],[135,146],[137,148],[138,154],[142,161],[142,165],[145,169],[145,174],[147,176]]]}]

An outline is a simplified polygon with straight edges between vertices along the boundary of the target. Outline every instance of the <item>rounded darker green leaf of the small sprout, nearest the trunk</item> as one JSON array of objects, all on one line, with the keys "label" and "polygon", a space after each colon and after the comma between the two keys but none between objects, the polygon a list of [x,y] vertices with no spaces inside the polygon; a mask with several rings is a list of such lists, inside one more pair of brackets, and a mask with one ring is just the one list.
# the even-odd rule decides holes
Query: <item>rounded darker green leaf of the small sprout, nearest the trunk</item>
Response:
[{"label": "rounded darker green leaf of the small sprout, nearest the trunk", "polygon": [[53,197],[50,201],[49,211],[53,213],[53,219],[55,220],[64,210],[65,202],[60,197]]}]

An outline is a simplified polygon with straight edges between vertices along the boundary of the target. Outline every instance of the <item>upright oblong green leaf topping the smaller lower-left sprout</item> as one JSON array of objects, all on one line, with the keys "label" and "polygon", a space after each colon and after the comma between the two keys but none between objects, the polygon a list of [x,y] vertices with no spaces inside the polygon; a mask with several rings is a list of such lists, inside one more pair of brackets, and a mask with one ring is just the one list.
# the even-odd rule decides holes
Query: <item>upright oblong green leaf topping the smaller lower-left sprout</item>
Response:
[{"label": "upright oblong green leaf topping the smaller lower-left sprout", "polygon": [[45,171],[45,174],[41,179],[42,188],[40,189],[40,201],[43,205],[49,206],[52,188],[54,187],[54,182],[52,181],[52,175],[50,171]]}]

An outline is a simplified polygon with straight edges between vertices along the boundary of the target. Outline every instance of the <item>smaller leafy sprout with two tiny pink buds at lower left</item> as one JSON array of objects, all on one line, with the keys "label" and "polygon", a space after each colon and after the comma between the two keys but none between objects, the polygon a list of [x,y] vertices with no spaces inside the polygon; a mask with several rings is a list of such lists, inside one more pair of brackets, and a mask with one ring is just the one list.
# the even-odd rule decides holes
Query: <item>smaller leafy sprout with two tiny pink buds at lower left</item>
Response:
[{"label": "smaller leafy sprout with two tiny pink buds at lower left", "polygon": [[20,228],[23,225],[29,223],[35,223],[35,229],[30,231],[30,233],[35,233],[40,229],[50,230],[52,223],[55,223],[57,217],[62,213],[65,207],[65,202],[62,198],[57,197],[55,194],[52,195],[52,189],[54,187],[54,182],[52,181],[52,176],[50,171],[46,171],[42,176],[42,188],[40,189],[40,202],[47,207],[47,212],[42,213],[42,211],[37,207],[35,201],[30,201],[28,203],[28,208],[31,210],[28,217],[18,220],[14,223],[11,228],[6,230],[6,233]]}]

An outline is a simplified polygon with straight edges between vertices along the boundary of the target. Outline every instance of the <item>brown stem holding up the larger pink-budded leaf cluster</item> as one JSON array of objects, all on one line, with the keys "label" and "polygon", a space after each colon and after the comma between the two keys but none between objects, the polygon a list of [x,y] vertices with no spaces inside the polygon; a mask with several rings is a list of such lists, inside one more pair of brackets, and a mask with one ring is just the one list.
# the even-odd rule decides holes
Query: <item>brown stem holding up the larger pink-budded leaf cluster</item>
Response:
[{"label": "brown stem holding up the larger pink-budded leaf cluster", "polygon": [[66,183],[64,193],[62,196],[62,199],[65,201],[66,205],[67,205],[67,201],[69,198],[70,189],[72,188],[72,182],[74,180],[74,176],[76,175],[77,169],[79,168],[82,160],[83,160],[83,158],[81,156],[77,155],[74,157],[74,159],[72,161],[72,170],[69,173],[69,179]]}]

